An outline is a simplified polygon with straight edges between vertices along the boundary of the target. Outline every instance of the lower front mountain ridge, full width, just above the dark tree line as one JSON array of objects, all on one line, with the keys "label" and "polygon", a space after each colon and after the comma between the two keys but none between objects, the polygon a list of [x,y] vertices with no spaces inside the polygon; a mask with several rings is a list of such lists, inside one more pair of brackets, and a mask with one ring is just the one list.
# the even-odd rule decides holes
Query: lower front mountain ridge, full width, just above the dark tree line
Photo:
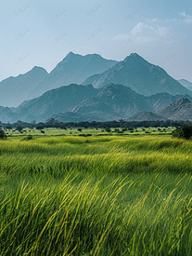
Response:
[{"label": "lower front mountain ridge, full width, just above the dark tree line", "polygon": [[13,123],[17,120],[40,122],[49,118],[62,122],[129,119],[141,111],[158,112],[181,97],[192,101],[189,95],[173,96],[167,92],[147,97],[122,85],[94,88],[92,85],[71,84],[24,101],[17,108],[0,107],[0,120]]}]

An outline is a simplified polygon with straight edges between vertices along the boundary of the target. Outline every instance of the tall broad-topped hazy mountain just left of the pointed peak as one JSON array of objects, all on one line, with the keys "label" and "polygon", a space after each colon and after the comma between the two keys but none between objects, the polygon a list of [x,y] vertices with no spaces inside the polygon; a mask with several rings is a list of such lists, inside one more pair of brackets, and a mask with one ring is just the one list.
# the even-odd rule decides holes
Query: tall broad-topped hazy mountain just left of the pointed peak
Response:
[{"label": "tall broad-topped hazy mountain just left of the pointed peak", "polygon": [[30,98],[38,97],[45,91],[70,84],[82,84],[83,80],[92,74],[102,73],[116,64],[118,61],[110,61],[98,54],[85,56],[70,53],[60,61],[56,68],[33,89]]}]

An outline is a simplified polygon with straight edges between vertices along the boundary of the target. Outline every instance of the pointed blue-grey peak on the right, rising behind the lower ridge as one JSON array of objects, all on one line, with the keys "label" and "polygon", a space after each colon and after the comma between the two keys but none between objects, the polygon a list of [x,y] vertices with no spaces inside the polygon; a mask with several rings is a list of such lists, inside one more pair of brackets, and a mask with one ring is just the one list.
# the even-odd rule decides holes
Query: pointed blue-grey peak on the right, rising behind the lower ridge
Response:
[{"label": "pointed blue-grey peak on the right, rising behind the lower ridge", "polygon": [[149,63],[136,53],[130,54],[124,61],[119,61],[104,73],[88,77],[83,85],[92,84],[95,88],[102,88],[108,83],[122,84],[145,96],[160,92],[192,95],[190,90],[160,66]]}]

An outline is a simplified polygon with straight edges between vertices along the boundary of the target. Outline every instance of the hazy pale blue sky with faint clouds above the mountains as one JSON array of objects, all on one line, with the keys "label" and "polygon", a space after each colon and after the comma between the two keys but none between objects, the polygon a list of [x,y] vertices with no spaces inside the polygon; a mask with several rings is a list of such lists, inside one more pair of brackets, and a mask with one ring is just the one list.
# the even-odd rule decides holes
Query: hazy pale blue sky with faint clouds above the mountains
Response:
[{"label": "hazy pale blue sky with faint clouds above the mountains", "polygon": [[0,81],[35,65],[50,72],[73,51],[137,52],[192,82],[191,0],[2,0],[0,31]]}]

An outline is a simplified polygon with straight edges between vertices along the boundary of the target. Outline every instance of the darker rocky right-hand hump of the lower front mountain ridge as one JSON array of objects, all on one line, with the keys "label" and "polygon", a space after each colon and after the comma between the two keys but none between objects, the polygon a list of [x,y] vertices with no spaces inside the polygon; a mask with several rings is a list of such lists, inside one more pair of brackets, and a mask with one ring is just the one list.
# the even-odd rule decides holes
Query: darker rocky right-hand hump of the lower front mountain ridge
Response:
[{"label": "darker rocky right-hand hump of the lower front mountain ridge", "polygon": [[[59,121],[107,121],[118,119],[129,119],[131,116],[145,111],[146,115],[142,120],[165,120],[166,117],[156,115],[155,112],[162,107],[180,98],[181,95],[170,95],[168,93],[159,93],[150,97],[145,97],[135,93],[131,88],[122,85],[106,85],[95,97],[82,101],[80,104],[70,108],[68,112],[53,115],[52,117]],[[164,102],[163,102],[164,99]],[[190,96],[188,99],[192,100]],[[147,112],[153,112],[147,114]]]}]

